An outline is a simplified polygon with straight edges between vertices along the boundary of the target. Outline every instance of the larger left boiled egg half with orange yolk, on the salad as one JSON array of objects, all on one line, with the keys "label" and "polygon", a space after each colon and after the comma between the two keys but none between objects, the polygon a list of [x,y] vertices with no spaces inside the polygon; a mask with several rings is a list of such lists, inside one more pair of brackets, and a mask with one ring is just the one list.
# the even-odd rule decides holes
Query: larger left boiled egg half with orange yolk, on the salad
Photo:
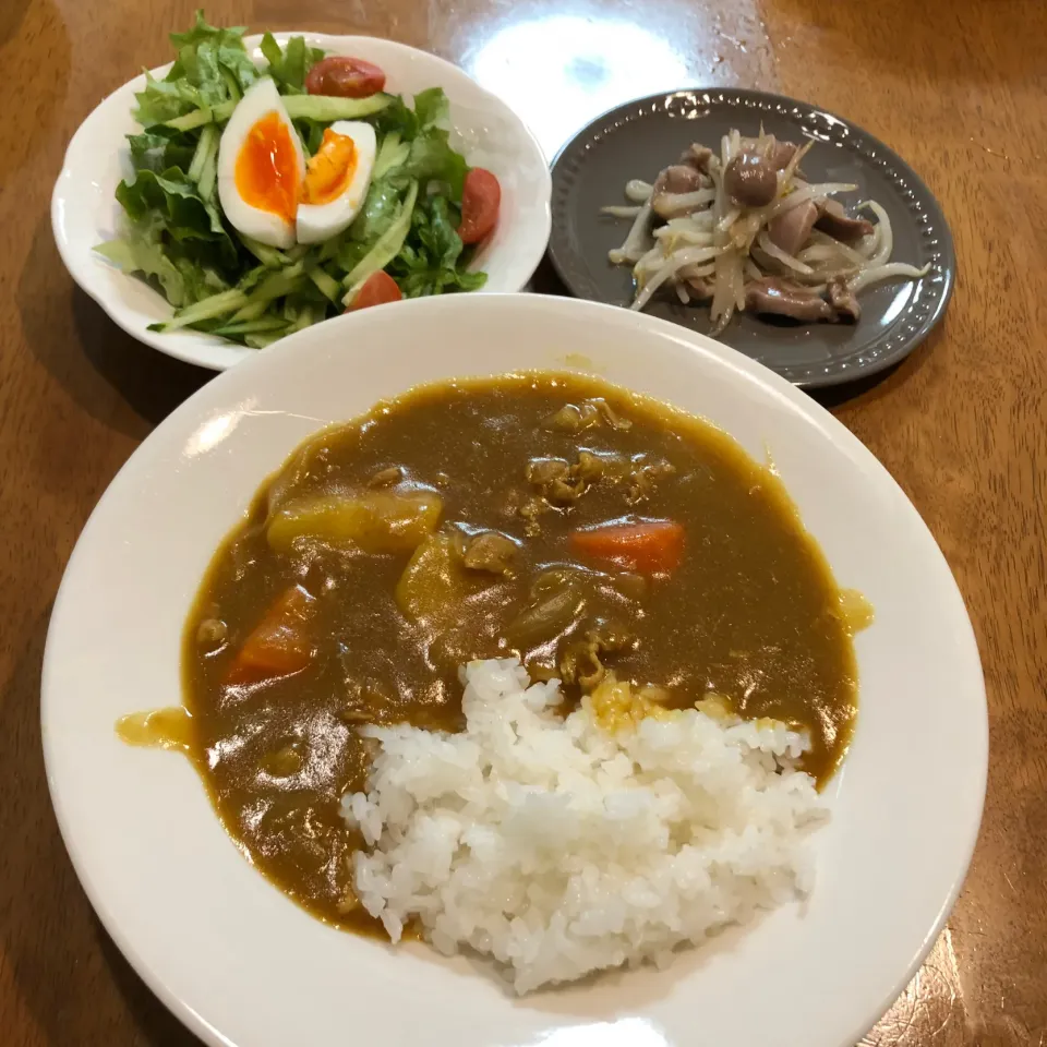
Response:
[{"label": "larger left boiled egg half with orange yolk, on the salad", "polygon": [[218,145],[218,200],[245,237],[270,248],[294,243],[305,154],[269,77],[256,81],[233,109]]}]

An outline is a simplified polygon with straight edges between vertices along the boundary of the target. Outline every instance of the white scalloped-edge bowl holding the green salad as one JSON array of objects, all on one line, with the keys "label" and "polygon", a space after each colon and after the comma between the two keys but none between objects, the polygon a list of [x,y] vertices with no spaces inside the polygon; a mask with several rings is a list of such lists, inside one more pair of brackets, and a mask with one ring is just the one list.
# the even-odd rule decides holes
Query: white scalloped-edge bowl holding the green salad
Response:
[{"label": "white scalloped-edge bowl holding the green salad", "polygon": [[[452,144],[472,167],[493,171],[502,185],[498,224],[477,254],[472,268],[488,274],[484,292],[519,291],[545,252],[551,225],[552,184],[541,146],[520,118],[457,65],[394,40],[371,36],[328,36],[317,33],[275,33],[280,44],[304,36],[309,45],[333,55],[351,55],[375,62],[386,73],[386,89],[412,96],[443,87],[450,101]],[[244,44],[264,65],[261,36]],[[170,65],[153,70],[164,76]],[[59,253],[73,279],[129,335],[170,357],[213,371],[224,371],[257,350],[196,330],[163,334],[149,324],[167,320],[171,306],[136,276],[121,273],[93,249],[117,236],[121,207],[113,197],[122,178],[131,174],[125,137],[141,128],[131,116],[134,94],[145,76],[115,91],[80,125],[51,197],[51,227]]]}]

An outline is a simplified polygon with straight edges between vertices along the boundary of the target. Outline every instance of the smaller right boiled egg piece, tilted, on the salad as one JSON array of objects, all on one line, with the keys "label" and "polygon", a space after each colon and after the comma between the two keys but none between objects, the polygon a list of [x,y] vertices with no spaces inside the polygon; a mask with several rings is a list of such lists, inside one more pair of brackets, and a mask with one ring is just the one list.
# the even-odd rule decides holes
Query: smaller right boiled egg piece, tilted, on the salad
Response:
[{"label": "smaller right boiled egg piece, tilted, on the salad", "polygon": [[346,229],[360,214],[371,184],[375,155],[374,128],[338,120],[305,169],[298,204],[298,242],[318,243]]}]

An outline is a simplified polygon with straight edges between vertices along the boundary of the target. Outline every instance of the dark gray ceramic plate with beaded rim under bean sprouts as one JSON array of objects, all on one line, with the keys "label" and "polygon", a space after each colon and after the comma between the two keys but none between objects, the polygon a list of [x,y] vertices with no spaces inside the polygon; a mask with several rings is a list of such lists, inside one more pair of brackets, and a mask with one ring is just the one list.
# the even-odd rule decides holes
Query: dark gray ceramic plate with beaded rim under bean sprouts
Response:
[{"label": "dark gray ceramic plate with beaded rim under bean sprouts", "polygon": [[[630,101],[594,120],[553,164],[553,232],[549,254],[561,279],[579,298],[627,305],[628,266],[613,266],[607,251],[628,232],[628,219],[600,214],[625,204],[630,178],[653,181],[691,142],[719,148],[732,128],[755,134],[760,123],[779,137],[817,140],[804,159],[814,181],[854,182],[838,197],[849,208],[872,197],[887,209],[894,232],[891,261],[930,272],[916,281],[874,286],[859,296],[855,325],[793,325],[747,313],[720,339],[803,386],[837,385],[872,374],[910,353],[941,318],[955,279],[955,254],[944,215],[915,171],[882,142],[840,117],[803,101],[759,91],[679,91]],[[657,297],[646,312],[708,332],[707,305]]]}]

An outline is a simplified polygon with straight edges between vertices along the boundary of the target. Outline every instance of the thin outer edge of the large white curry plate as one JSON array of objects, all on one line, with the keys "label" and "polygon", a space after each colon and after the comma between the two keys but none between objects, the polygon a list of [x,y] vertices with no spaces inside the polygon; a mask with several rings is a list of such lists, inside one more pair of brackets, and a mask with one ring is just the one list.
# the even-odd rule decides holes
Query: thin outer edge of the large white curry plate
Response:
[{"label": "thin outer edge of the large white curry plate", "polygon": [[[563,297],[556,296],[526,296],[521,297],[518,294],[510,293],[495,293],[490,296],[483,296],[482,299],[474,300],[476,305],[465,306],[468,309],[479,309],[479,308],[494,308],[497,309],[500,300],[522,300],[533,301],[534,304],[540,306],[550,308],[552,310],[566,310],[568,312],[590,312],[592,314],[605,314],[607,315],[609,322],[615,323],[618,325],[627,324],[630,322],[629,314],[623,313],[623,311],[614,305],[606,303],[589,302],[585,300],[574,300],[574,299],[564,299]],[[466,299],[455,299],[455,298],[433,298],[433,299],[422,299],[417,300],[410,303],[406,303],[406,308],[414,309],[418,312],[423,312],[425,310],[436,311],[440,309],[454,310],[455,308],[462,308],[461,303],[467,301]],[[482,304],[481,304],[482,303]],[[614,315],[612,315],[614,314]],[[373,314],[377,315],[377,314]],[[346,323],[340,318],[335,318],[334,323]],[[855,1027],[853,1036],[849,1037],[846,1045],[841,1044],[841,1047],[850,1047],[851,1043],[856,1042],[862,1035],[864,1035],[868,1028],[875,1023],[878,1018],[886,1012],[886,1010],[894,1002],[904,987],[908,984],[912,976],[923,963],[926,955],[929,953],[930,949],[934,947],[943,925],[947,920],[949,914],[951,913],[953,905],[960,894],[960,891],[963,887],[964,879],[966,877],[970,863],[974,853],[974,849],[978,839],[979,828],[982,823],[982,818],[984,814],[984,804],[985,804],[985,789],[987,780],[987,770],[988,770],[988,705],[985,691],[984,683],[984,671],[980,666],[980,652],[978,651],[977,637],[974,631],[973,623],[971,622],[970,613],[966,611],[966,605],[963,600],[963,594],[960,591],[959,585],[956,583],[955,577],[952,574],[952,569],[949,567],[948,561],[946,559],[943,553],[941,552],[940,546],[938,545],[937,540],[935,539],[932,532],[930,531],[927,524],[923,520],[923,517],[913,505],[908,496],[905,494],[904,490],[900,484],[894,480],[889,470],[871,454],[871,452],[831,412],[827,411],[816,401],[813,401],[809,397],[804,395],[802,390],[792,386],[789,382],[782,378],[780,375],[774,374],[773,372],[768,373],[768,369],[763,368],[761,364],[751,360],[743,353],[737,352],[733,348],[723,345],[722,342],[717,342],[713,339],[708,338],[708,336],[702,335],[698,332],[693,332],[687,328],[682,328],[679,325],[673,324],[669,321],[662,320],[655,316],[643,316],[641,321],[637,324],[634,321],[635,326],[647,326],[650,325],[655,328],[661,328],[661,334],[666,338],[676,341],[679,345],[686,346],[688,342],[691,344],[691,348],[698,348],[699,351],[705,352],[706,354],[711,354],[719,358],[719,361],[726,365],[729,369],[735,372],[742,372],[748,374],[748,376],[758,383],[761,386],[770,387],[769,392],[786,399],[791,400],[793,406],[798,409],[805,420],[814,424],[818,431],[826,438],[832,438],[833,442],[841,445],[841,449],[849,452],[850,455],[857,455],[861,460],[864,460],[876,467],[876,470],[879,473],[879,480],[881,483],[888,484],[891,490],[894,492],[899,500],[899,504],[904,506],[906,514],[913,519],[913,526],[922,530],[923,537],[930,542],[930,549],[935,554],[936,561],[939,563],[939,566],[942,567],[948,576],[949,580],[949,599],[958,601],[960,609],[963,611],[963,619],[965,628],[964,639],[966,643],[970,645],[970,649],[974,654],[975,661],[978,665],[977,673],[977,689],[980,696],[980,710],[983,715],[978,719],[975,724],[972,721],[972,726],[977,727],[978,743],[982,753],[982,760],[979,761],[975,770],[978,772],[979,783],[977,793],[980,797],[978,804],[978,816],[970,826],[970,831],[967,833],[967,842],[964,849],[963,861],[961,865],[956,868],[954,875],[952,876],[951,888],[947,893],[947,896],[942,900],[941,905],[938,908],[936,916],[934,917],[931,925],[927,928],[920,948],[912,956],[904,972],[900,973],[898,976],[896,983],[892,986],[890,991],[884,996],[879,1009],[876,1014],[871,1018],[861,1019],[861,1025]],[[269,364],[264,364],[261,362],[262,354],[258,354],[260,363],[257,366],[272,365],[272,359],[278,356],[281,352],[294,352],[296,346],[292,345],[294,339],[304,340],[304,337],[310,337],[308,332],[301,332],[296,334],[288,339],[285,339],[277,345],[273,350],[266,352],[266,357],[270,359]],[[312,336],[312,337],[315,337]],[[699,345],[694,346],[695,342]],[[566,366],[566,365],[565,365]],[[135,448],[131,454],[128,460],[123,464],[121,469],[117,472],[113,479],[107,485],[105,492],[99,497],[95,508],[92,510],[87,521],[85,522],[83,530],[81,531],[80,537],[77,538],[76,544],[69,557],[65,569],[63,571],[62,582],[59,587],[58,593],[55,599],[50,621],[48,624],[47,630],[47,640],[45,645],[44,653],[44,665],[41,673],[41,683],[40,683],[40,723],[41,723],[41,734],[43,734],[43,748],[45,765],[47,770],[47,782],[49,794],[52,803],[52,807],[56,813],[57,821],[59,825],[60,834],[62,837],[63,844],[65,846],[67,853],[70,856],[70,861],[74,867],[77,879],[80,880],[84,892],[87,894],[88,900],[92,903],[93,908],[98,915],[99,920],[103,923],[106,931],[111,936],[113,941],[117,943],[118,948],[121,950],[124,956],[132,964],[137,974],[143,978],[146,985],[149,987],[151,991],[157,996],[158,999],[164,1002],[164,1004],[180,1020],[182,1021],[192,1032],[201,1036],[208,1044],[215,1045],[215,1047],[234,1047],[232,1040],[224,1036],[219,1030],[212,1026],[206,1019],[197,1013],[185,1000],[181,999],[177,995],[173,995],[167,989],[163,978],[157,974],[154,968],[140,955],[137,950],[134,948],[130,936],[124,932],[121,924],[116,918],[110,908],[104,903],[100,892],[97,889],[96,881],[89,875],[87,865],[84,861],[84,855],[76,852],[70,844],[70,830],[71,825],[68,820],[68,814],[63,813],[63,805],[60,801],[60,797],[57,792],[57,778],[55,773],[53,759],[55,757],[51,754],[49,742],[49,731],[48,731],[48,708],[55,702],[55,698],[49,698],[49,691],[51,691],[52,685],[50,678],[53,674],[53,650],[57,633],[57,623],[64,617],[64,604],[68,602],[68,586],[67,579],[73,573],[75,564],[80,556],[85,555],[85,540],[88,538],[89,533],[93,531],[93,527],[97,526],[97,517],[99,510],[106,501],[112,495],[113,489],[118,488],[118,481],[121,477],[124,477],[124,483],[127,483],[127,477],[132,474],[135,469],[140,467],[140,464],[148,460],[148,456],[152,452],[152,448],[147,448],[147,445],[153,441],[153,435],[159,432],[165,426],[168,426],[168,422],[171,421],[172,425],[169,428],[174,428],[174,423],[180,421],[182,418],[192,417],[194,413],[198,412],[198,407],[203,406],[215,393],[216,389],[221,389],[224,384],[228,382],[240,381],[239,378],[226,378],[222,375],[216,377],[215,381],[208,383],[206,386],[202,387],[200,390],[194,393],[189,397],[183,404],[181,404],[164,422],[160,423],[153,433],[146,437],[143,443]],[[260,481],[261,482],[261,481]],[[122,492],[118,492],[122,493]],[[666,1042],[667,1043],[667,1042]],[[240,1047],[251,1047],[248,1044],[240,1044]]]}]

